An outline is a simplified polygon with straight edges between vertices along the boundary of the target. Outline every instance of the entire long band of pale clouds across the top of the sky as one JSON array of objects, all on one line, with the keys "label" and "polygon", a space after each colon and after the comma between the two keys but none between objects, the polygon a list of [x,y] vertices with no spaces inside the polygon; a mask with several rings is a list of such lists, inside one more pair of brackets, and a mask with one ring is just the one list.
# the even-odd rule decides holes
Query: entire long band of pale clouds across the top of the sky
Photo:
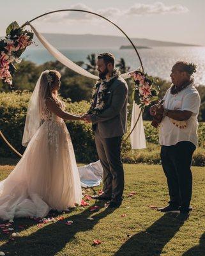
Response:
[{"label": "entire long band of pale clouds across the top of the sky", "polygon": [[[165,5],[161,2],[156,2],[154,4],[142,4],[138,3],[127,10],[119,10],[119,8],[109,7],[100,10],[93,10],[86,6],[86,4],[78,3],[71,6],[71,9],[77,10],[86,10],[89,12],[98,13],[106,18],[112,18],[112,20],[118,19],[123,15],[126,16],[135,16],[135,15],[163,15],[167,13],[186,13],[189,12],[186,6],[182,6],[181,4],[174,4],[174,5]],[[55,14],[50,14],[42,18],[46,22],[55,22],[55,23],[65,23],[65,22],[73,22],[75,20],[79,20],[81,22],[86,22],[88,20],[98,20],[98,17],[92,15],[90,13],[83,13],[83,12],[59,12]],[[41,21],[42,21],[41,19]]]}]

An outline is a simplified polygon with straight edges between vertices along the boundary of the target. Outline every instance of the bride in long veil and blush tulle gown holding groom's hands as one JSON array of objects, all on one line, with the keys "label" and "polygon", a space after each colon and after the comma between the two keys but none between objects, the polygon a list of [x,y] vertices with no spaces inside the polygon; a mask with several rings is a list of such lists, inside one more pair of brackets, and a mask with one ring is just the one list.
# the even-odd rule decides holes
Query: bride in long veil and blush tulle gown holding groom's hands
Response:
[{"label": "bride in long veil and blush tulle gown holding groom's hands", "polygon": [[80,116],[64,111],[57,97],[61,75],[42,72],[27,109],[22,145],[24,155],[0,182],[0,218],[43,218],[50,209],[66,210],[80,204],[82,190],[66,120]]}]

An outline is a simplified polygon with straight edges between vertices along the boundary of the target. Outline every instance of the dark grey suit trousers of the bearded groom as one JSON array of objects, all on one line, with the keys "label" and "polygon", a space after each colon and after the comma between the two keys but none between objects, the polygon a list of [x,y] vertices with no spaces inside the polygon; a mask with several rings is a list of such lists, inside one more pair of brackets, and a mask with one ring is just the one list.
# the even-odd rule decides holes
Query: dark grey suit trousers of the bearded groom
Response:
[{"label": "dark grey suit trousers of the bearded groom", "polygon": [[125,186],[121,141],[122,136],[102,138],[98,128],[95,131],[96,149],[103,167],[103,191],[116,203],[122,201]]}]

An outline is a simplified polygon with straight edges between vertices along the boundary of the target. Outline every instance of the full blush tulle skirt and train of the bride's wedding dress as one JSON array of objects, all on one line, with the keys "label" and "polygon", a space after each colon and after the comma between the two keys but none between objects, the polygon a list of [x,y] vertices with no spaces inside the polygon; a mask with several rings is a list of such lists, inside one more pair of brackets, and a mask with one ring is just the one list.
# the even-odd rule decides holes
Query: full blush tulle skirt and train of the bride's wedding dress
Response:
[{"label": "full blush tulle skirt and train of the bride's wedding dress", "polygon": [[79,171],[65,122],[51,112],[43,118],[17,166],[0,182],[3,220],[43,218],[50,209],[63,211],[82,200]]}]

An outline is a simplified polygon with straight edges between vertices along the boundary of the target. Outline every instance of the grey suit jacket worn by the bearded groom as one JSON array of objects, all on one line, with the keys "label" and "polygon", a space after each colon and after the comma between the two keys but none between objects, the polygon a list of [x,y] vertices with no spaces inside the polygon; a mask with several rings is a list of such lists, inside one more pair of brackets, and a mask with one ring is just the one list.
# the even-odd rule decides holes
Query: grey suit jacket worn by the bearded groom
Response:
[{"label": "grey suit jacket worn by the bearded groom", "polygon": [[123,136],[126,132],[128,86],[122,77],[118,77],[110,86],[105,101],[105,110],[92,115],[93,130],[98,125],[102,138]]}]

